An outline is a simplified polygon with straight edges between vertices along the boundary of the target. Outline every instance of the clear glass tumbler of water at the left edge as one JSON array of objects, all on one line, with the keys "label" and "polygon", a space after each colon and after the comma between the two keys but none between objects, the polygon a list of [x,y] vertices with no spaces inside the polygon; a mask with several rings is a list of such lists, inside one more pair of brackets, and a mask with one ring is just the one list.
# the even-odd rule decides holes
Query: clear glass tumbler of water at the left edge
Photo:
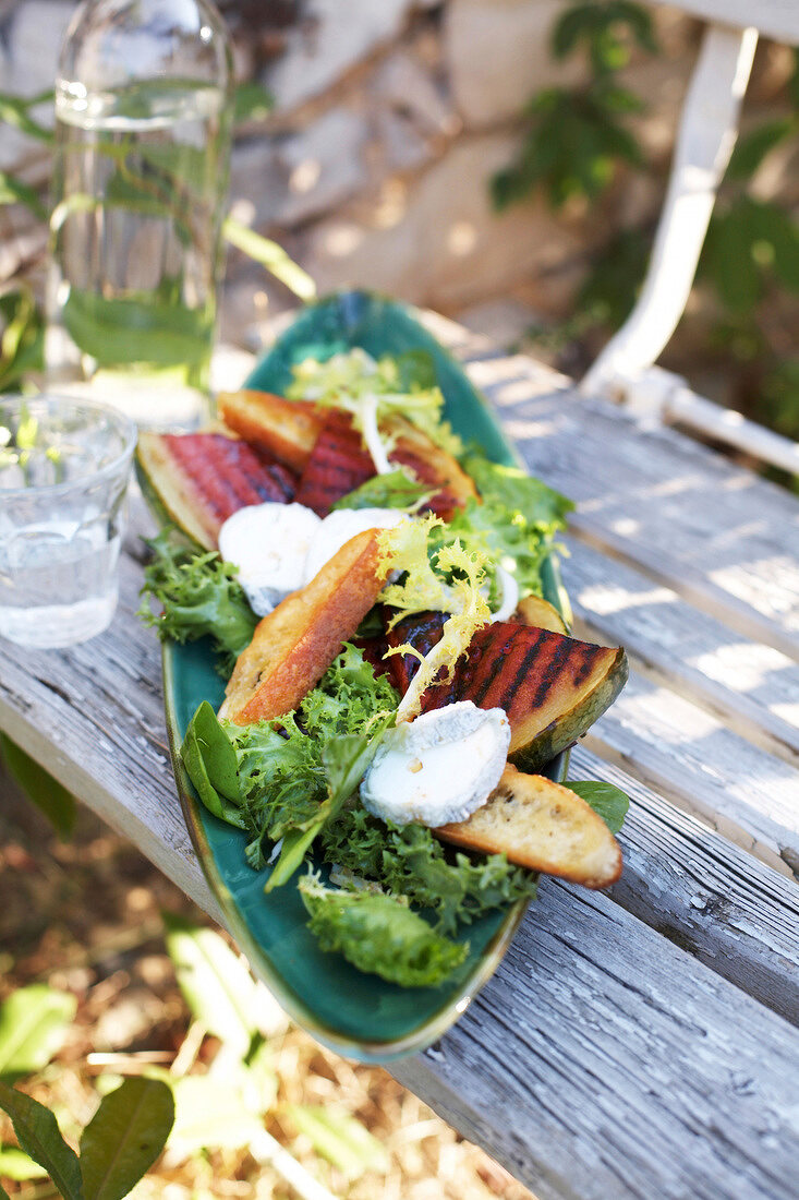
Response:
[{"label": "clear glass tumbler of water at the left edge", "polygon": [[0,397],[0,636],[52,648],[114,616],[136,426],[70,397]]}]

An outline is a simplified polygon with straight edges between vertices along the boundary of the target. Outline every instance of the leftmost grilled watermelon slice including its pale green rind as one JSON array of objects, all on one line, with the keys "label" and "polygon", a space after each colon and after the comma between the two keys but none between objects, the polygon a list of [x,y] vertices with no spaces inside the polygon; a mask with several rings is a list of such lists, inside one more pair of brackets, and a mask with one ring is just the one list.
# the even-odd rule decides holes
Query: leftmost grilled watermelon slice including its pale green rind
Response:
[{"label": "leftmost grilled watermelon slice including its pale green rind", "polygon": [[156,511],[206,550],[248,504],[294,499],[296,479],[281,463],[223,433],[142,433],[137,466]]}]

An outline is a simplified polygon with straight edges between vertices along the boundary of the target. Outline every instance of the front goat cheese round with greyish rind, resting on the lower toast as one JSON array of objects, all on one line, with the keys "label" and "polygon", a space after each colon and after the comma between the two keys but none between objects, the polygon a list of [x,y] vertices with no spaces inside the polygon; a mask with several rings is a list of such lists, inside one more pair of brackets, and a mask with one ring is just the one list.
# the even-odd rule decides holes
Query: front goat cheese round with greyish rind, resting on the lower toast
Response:
[{"label": "front goat cheese round with greyish rind, resting on the lower toast", "polygon": [[505,767],[510,724],[501,708],[462,700],[389,730],[360,787],[376,817],[427,826],[465,821]]}]

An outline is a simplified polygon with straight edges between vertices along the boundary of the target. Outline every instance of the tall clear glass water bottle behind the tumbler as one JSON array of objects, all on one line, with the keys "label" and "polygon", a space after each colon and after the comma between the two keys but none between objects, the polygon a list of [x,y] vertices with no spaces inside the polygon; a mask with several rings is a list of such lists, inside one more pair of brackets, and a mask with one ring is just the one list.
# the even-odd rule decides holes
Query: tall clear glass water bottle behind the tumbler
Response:
[{"label": "tall clear glass water bottle behind the tumbler", "polygon": [[84,0],[61,49],[48,378],[139,425],[206,412],[230,86],[209,0]]}]

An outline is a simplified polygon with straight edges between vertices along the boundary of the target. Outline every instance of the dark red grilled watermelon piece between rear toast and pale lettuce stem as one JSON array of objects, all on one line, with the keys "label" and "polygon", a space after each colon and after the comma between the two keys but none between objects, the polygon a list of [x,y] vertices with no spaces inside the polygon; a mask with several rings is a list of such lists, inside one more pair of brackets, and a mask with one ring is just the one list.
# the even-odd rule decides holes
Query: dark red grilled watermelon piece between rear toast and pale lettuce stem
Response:
[{"label": "dark red grilled watermelon piece between rear toast and pale lettuce stem", "polygon": [[331,412],[305,466],[295,499],[326,517],[336,500],[374,474],[372,456],[349,414]]}]

